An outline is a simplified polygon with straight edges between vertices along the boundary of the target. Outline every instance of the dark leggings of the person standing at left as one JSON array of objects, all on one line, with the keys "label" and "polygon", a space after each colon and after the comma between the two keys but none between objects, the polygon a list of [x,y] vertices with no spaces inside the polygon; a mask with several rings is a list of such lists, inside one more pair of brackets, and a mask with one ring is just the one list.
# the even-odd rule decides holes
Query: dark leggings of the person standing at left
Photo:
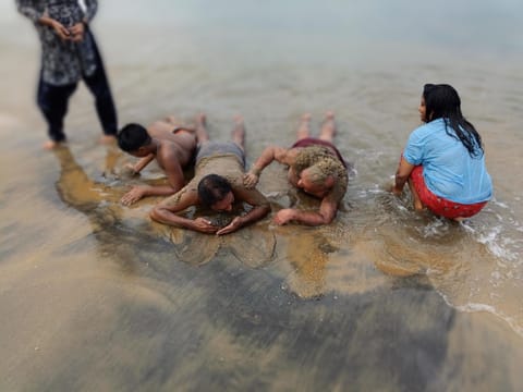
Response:
[{"label": "dark leggings of the person standing at left", "polygon": [[[86,30],[85,34],[90,34]],[[104,134],[115,135],[118,130],[117,110],[112,100],[111,89],[106,76],[101,57],[93,37],[96,56],[96,71],[90,76],[83,76],[83,81],[95,97],[95,107]],[[69,98],[76,89],[77,83],[56,86],[41,78],[38,82],[37,103],[47,120],[49,137],[54,142],[64,142],[63,118],[68,112]]]}]

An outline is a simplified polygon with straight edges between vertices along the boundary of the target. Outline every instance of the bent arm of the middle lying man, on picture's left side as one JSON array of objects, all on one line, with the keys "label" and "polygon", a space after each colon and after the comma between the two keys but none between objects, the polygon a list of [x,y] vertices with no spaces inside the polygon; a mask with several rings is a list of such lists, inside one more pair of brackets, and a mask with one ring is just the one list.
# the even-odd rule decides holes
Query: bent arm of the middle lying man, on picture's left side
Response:
[{"label": "bent arm of the middle lying man, on picture's left side", "polygon": [[158,204],[151,211],[150,218],[157,222],[194,230],[200,233],[212,234],[218,230],[211,222],[204,218],[187,219],[178,213],[184,209],[198,204],[198,195],[196,189],[184,187],[175,195],[165,199]]}]

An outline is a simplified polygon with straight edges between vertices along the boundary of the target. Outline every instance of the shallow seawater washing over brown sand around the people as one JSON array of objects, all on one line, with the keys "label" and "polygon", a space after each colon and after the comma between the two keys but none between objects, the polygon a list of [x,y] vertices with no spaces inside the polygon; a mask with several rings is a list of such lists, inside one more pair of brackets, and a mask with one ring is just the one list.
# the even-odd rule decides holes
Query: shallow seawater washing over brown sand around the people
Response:
[{"label": "shallow seawater washing over brown sand around the people", "polygon": [[[251,163],[336,112],[354,166],[336,221],[223,237],[150,221],[160,198],[119,203],[165,180],[97,144],[84,86],[69,147],[41,150],[36,34],[0,11],[1,390],[523,388],[519,2],[100,2],[121,124],[204,111],[227,139],[241,113]],[[457,87],[485,142],[495,197],[462,223],[387,192],[424,83]],[[259,188],[273,211],[315,207],[277,164]]]}]

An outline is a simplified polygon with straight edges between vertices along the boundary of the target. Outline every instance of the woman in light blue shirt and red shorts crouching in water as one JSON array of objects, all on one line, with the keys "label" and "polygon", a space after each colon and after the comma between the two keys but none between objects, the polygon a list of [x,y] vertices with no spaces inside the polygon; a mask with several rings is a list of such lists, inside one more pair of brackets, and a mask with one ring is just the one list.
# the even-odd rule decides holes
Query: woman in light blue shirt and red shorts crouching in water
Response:
[{"label": "woman in light blue shirt and red shorts crouching in water", "polygon": [[419,103],[424,125],[414,130],[403,150],[392,192],[409,181],[414,208],[450,219],[469,218],[492,195],[482,137],[461,113],[458,91],[427,84]]}]

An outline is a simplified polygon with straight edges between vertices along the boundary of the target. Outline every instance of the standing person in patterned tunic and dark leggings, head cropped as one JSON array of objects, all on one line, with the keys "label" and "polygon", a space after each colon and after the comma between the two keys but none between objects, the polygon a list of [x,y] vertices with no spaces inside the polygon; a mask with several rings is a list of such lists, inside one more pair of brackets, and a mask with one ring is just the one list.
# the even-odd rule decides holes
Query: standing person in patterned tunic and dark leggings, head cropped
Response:
[{"label": "standing person in patterned tunic and dark leggings, head cropped", "polygon": [[16,0],[19,12],[35,24],[41,44],[37,103],[48,124],[49,140],[44,145],[47,149],[66,142],[63,119],[81,79],[95,97],[104,131],[101,142],[115,139],[117,110],[89,28],[98,4],[96,0],[84,0],[84,3],[85,12],[78,0]]}]

